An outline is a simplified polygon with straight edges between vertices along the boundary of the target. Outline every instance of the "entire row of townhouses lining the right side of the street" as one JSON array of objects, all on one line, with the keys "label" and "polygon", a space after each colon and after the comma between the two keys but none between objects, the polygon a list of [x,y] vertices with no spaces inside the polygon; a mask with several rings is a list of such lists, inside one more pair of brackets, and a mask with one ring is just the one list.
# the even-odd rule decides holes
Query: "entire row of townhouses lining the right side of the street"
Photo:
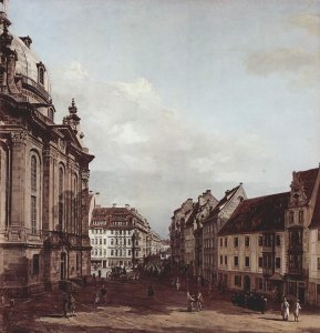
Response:
[{"label": "entire row of townhouses lining the right side of the street", "polygon": [[320,172],[292,173],[290,191],[247,199],[242,184],[216,200],[188,199],[169,226],[173,261],[234,290],[320,306]]}]

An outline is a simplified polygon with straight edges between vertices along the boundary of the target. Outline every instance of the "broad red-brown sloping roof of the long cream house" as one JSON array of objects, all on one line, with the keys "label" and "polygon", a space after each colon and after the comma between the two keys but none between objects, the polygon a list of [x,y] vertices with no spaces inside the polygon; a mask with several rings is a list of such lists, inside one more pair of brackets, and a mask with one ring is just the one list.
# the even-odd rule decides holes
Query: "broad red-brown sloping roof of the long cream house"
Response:
[{"label": "broad red-brown sloping roof of the long cream house", "polygon": [[285,230],[285,211],[290,192],[244,200],[219,235]]}]

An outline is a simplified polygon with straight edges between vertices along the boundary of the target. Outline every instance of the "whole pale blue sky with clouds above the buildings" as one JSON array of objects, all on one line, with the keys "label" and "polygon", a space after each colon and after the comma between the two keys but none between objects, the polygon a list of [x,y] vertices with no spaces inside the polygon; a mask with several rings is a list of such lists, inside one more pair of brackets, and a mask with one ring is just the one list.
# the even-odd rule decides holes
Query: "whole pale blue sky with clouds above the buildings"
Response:
[{"label": "whole pale blue sky with clouds above the buildings", "polygon": [[99,203],[163,238],[188,198],[285,192],[319,165],[318,0],[10,0],[9,18],[58,123],[75,99]]}]

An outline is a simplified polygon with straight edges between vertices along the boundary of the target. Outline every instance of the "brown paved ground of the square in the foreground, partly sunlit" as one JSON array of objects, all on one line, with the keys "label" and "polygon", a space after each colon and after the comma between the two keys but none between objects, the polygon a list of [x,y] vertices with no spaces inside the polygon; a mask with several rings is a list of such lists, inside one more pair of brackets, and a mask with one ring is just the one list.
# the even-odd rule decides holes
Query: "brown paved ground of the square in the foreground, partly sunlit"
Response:
[{"label": "brown paved ground of the square in the foreground, partly sunlit", "polygon": [[233,305],[229,295],[205,297],[202,312],[186,311],[186,292],[155,283],[155,297],[146,295],[148,282],[107,282],[106,304],[93,306],[99,286],[76,293],[76,316],[62,315],[61,292],[17,300],[4,314],[9,332],[320,332],[320,316],[303,312],[299,323],[283,322],[280,312],[266,314]]}]

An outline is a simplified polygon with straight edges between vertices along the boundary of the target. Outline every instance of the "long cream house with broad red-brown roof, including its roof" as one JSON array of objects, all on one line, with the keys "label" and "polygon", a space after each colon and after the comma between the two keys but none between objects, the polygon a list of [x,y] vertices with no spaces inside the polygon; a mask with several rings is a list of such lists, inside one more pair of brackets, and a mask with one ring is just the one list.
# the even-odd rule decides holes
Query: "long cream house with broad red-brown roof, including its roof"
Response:
[{"label": "long cream house with broad red-brown roof, including its roof", "polygon": [[289,193],[247,199],[218,233],[218,281],[230,289],[283,292]]}]

